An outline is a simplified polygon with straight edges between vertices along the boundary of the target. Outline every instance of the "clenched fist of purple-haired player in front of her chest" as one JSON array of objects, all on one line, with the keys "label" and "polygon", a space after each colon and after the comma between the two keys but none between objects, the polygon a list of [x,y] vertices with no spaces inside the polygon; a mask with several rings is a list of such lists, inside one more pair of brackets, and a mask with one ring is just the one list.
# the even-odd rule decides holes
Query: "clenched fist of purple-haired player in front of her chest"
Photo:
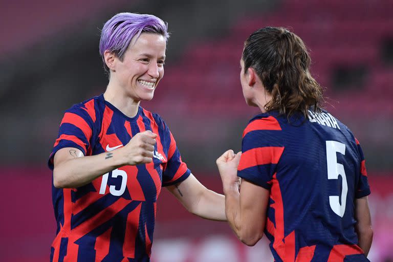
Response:
[{"label": "clenched fist of purple-haired player in front of her chest", "polygon": [[121,151],[125,165],[138,165],[153,161],[154,145],[157,134],[150,130],[136,134],[125,146],[117,149]]}]

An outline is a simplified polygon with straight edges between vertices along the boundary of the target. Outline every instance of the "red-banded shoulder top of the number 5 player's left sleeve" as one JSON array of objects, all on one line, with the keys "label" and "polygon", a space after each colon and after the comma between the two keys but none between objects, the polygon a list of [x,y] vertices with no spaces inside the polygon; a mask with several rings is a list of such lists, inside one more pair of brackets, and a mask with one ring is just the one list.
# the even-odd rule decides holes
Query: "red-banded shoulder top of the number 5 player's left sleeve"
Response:
[{"label": "red-banded shoulder top of the number 5 player's left sleeve", "polygon": [[258,130],[281,130],[281,125],[274,114],[259,114],[253,117],[244,129],[243,137]]}]

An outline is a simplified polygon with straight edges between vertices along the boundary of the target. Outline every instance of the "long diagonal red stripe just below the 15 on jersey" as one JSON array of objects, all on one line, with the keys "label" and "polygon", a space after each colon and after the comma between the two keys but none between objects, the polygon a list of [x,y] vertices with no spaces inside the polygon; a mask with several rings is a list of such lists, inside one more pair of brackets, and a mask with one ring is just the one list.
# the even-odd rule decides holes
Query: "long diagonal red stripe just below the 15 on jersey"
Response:
[{"label": "long diagonal red stripe just below the 15 on jersey", "polygon": [[83,223],[78,225],[76,228],[72,230],[72,234],[75,237],[81,237],[86,234],[86,232],[90,232],[96,227],[102,225],[108,220],[112,219],[117,213],[119,213],[126,205],[128,205],[131,201],[126,199],[119,199],[112,205],[108,206],[104,210],[98,212],[91,219],[85,220]]}]

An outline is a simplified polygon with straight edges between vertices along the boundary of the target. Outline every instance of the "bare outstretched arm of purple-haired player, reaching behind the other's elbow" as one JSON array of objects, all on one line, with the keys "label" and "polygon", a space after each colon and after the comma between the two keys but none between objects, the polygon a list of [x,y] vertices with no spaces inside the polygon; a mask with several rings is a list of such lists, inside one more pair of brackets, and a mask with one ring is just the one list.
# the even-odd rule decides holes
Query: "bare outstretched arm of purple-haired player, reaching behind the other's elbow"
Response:
[{"label": "bare outstretched arm of purple-haired player, reaching behind the other's elbow", "polygon": [[204,219],[227,221],[224,195],[207,189],[193,174],[167,189],[189,212]]}]

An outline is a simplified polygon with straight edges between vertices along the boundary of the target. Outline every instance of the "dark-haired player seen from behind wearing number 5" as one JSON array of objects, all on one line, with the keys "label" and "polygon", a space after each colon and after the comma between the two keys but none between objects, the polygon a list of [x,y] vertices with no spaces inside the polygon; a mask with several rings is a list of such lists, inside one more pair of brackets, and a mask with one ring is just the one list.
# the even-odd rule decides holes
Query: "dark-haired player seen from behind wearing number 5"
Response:
[{"label": "dark-haired player seen from behind wearing number 5", "polygon": [[243,95],[261,114],[245,128],[242,152],[216,161],[232,230],[249,246],[265,232],[276,262],[368,261],[363,152],[351,130],[321,109],[304,43],[283,28],[259,29],[240,63]]}]

